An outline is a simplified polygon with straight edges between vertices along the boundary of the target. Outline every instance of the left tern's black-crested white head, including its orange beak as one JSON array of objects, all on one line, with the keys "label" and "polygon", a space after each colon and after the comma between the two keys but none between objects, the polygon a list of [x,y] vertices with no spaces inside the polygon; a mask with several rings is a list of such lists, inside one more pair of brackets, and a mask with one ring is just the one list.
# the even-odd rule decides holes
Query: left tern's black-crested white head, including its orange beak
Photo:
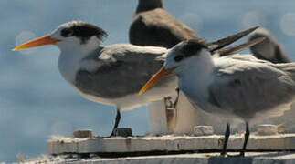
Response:
[{"label": "left tern's black-crested white head, including its orange beak", "polygon": [[77,47],[91,51],[100,46],[104,36],[107,36],[107,33],[98,26],[72,21],[59,26],[50,35],[39,37],[21,46],[17,46],[14,51],[46,45],[56,45],[61,51]]}]

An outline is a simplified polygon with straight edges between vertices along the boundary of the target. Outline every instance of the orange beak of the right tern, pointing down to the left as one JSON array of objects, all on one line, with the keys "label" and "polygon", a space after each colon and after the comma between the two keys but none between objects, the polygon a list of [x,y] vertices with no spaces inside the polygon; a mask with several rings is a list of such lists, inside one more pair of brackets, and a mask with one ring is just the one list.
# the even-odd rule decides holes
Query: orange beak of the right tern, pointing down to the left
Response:
[{"label": "orange beak of the right tern, pointing down to the left", "polygon": [[139,95],[142,95],[145,91],[156,85],[163,77],[167,77],[174,69],[175,67],[168,69],[161,67],[161,69],[142,87]]}]

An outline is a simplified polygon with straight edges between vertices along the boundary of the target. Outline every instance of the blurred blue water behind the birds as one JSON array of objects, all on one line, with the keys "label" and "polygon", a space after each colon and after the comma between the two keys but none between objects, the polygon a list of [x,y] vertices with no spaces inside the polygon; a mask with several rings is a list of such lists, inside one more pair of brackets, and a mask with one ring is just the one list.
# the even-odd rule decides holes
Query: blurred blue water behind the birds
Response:
[{"label": "blurred blue water behind the birds", "polygon": [[[284,0],[169,0],[165,8],[191,26],[198,36],[214,40],[253,25],[263,25],[292,55],[295,43],[295,1]],[[71,136],[77,128],[108,135],[113,107],[79,96],[58,72],[58,48],[45,46],[12,52],[16,43],[44,36],[58,25],[82,20],[109,33],[104,45],[128,42],[128,27],[136,0],[2,0],[0,1],[0,161],[16,154],[37,157],[47,153],[50,135]],[[294,25],[294,26],[293,26]],[[284,29],[284,30],[282,30]],[[295,56],[291,56],[294,59]],[[122,114],[121,127],[135,134],[148,130],[148,110]]]}]

